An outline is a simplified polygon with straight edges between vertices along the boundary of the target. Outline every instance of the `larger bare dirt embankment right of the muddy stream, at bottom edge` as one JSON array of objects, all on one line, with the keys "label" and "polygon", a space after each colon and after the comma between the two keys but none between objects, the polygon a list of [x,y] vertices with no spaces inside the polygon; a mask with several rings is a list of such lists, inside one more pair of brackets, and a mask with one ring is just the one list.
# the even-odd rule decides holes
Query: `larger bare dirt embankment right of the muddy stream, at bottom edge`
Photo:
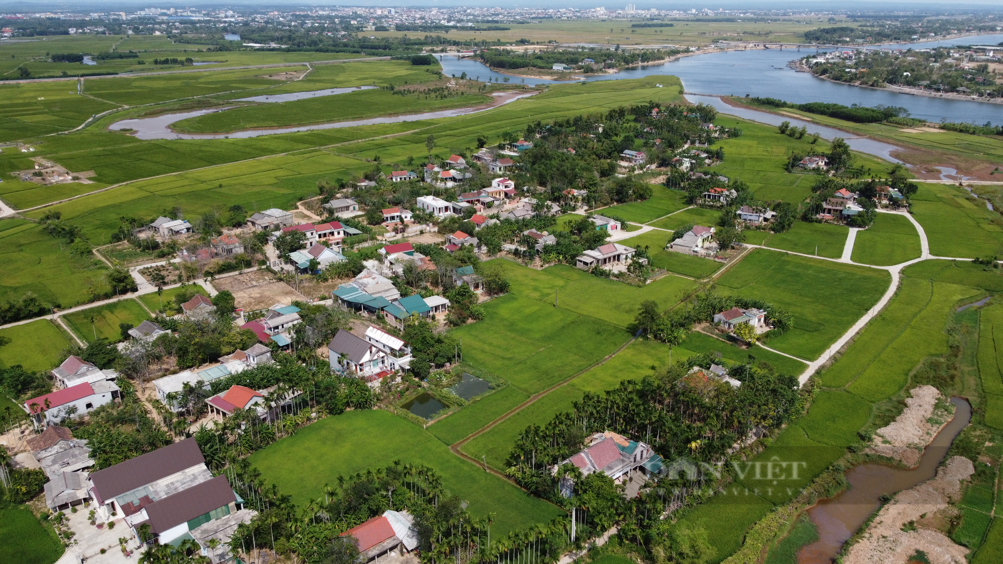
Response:
[{"label": "larger bare dirt embankment right of the muddy stream, at bottom edge", "polygon": [[905,564],[922,550],[930,564],[967,564],[967,548],[925,525],[950,520],[951,503],[961,495],[961,482],[973,474],[972,461],[951,457],[936,478],[900,492],[882,508],[843,563]]}]

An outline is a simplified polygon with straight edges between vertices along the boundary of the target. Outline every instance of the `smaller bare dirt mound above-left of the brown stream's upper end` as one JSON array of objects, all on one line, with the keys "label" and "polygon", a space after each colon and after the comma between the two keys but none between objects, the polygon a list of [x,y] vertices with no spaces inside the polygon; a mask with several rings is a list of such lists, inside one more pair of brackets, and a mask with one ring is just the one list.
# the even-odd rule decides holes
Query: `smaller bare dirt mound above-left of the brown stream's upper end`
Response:
[{"label": "smaller bare dirt mound above-left of the brown stream's upper end", "polygon": [[951,420],[953,405],[932,385],[915,387],[911,393],[906,409],[875,433],[865,453],[899,461],[909,468],[920,464],[923,450]]}]

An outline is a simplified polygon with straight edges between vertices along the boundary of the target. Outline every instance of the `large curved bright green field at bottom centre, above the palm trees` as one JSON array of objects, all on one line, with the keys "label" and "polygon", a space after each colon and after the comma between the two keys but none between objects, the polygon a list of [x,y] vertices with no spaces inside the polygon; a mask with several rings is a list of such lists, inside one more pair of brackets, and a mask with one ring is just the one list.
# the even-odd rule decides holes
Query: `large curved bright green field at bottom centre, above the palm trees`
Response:
[{"label": "large curved bright green field at bottom centre, above the palm trees", "polygon": [[563,513],[453,455],[420,427],[380,409],[326,417],[251,456],[265,480],[299,505],[321,496],[324,486],[336,484],[338,476],[390,466],[396,460],[434,469],[448,493],[469,502],[472,515],[494,513],[492,533],[498,537]]}]

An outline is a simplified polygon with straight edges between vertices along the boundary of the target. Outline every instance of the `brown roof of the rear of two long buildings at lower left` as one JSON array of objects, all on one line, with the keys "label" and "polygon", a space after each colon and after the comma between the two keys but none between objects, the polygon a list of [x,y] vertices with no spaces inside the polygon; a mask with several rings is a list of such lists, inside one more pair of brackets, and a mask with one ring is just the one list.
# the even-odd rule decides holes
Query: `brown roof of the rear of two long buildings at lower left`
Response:
[{"label": "brown roof of the rear of two long buildings at lower left", "polygon": [[103,505],[122,494],[201,464],[206,464],[206,459],[195,438],[191,438],[98,470],[88,478],[98,505]]}]

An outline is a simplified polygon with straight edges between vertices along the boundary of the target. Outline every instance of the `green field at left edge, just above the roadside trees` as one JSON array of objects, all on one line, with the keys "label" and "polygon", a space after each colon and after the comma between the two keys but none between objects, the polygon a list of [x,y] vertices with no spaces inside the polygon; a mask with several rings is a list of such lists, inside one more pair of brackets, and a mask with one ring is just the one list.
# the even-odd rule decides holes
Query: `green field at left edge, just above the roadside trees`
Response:
[{"label": "green field at left edge, just above the roadside trees", "polygon": [[103,281],[105,272],[104,263],[70,255],[38,224],[0,220],[0,301],[32,292],[44,302],[72,307],[87,299],[88,281]]}]

